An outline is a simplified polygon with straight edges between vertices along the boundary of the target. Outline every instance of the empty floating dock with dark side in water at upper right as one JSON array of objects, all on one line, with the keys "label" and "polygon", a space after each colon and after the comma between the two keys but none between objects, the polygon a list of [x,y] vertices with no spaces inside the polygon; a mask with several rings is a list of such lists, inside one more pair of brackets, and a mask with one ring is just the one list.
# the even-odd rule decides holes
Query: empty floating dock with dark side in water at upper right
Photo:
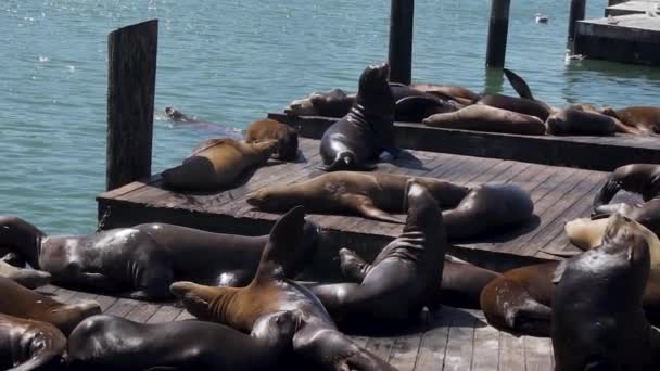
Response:
[{"label": "empty floating dock with dark side in water at upper right", "polygon": [[573,52],[589,59],[660,65],[660,16],[619,15],[578,22]]}]

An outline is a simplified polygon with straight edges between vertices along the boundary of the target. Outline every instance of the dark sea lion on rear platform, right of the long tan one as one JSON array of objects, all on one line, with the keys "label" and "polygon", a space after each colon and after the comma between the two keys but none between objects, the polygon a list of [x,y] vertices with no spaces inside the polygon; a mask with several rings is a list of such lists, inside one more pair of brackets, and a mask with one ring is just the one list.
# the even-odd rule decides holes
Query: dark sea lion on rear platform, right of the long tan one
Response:
[{"label": "dark sea lion on rear platform, right of the long tan one", "polygon": [[613,136],[618,131],[611,117],[574,107],[553,113],[545,125],[555,136]]}]

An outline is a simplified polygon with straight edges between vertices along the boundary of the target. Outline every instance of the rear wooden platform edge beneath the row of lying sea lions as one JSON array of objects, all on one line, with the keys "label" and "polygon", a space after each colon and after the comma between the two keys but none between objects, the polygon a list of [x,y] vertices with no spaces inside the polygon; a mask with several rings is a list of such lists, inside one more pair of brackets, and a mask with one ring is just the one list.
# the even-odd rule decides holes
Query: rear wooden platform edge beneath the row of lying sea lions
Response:
[{"label": "rear wooden platform edge beneath the row of lying sea lions", "polygon": [[[268,117],[293,126],[303,137],[315,139],[320,139],[326,129],[338,120],[282,113],[270,113]],[[660,164],[660,138],[657,137],[520,136],[441,129],[416,123],[395,123],[394,129],[396,144],[405,149],[601,171],[635,163]]]}]

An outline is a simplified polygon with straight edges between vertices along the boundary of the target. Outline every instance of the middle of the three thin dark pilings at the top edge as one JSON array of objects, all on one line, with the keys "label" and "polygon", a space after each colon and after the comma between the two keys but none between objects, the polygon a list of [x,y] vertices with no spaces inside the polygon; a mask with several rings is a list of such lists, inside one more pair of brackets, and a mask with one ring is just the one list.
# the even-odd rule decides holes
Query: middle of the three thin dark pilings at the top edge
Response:
[{"label": "middle of the three thin dark pilings at the top edge", "polygon": [[509,31],[510,0],[492,0],[486,67],[504,67]]}]

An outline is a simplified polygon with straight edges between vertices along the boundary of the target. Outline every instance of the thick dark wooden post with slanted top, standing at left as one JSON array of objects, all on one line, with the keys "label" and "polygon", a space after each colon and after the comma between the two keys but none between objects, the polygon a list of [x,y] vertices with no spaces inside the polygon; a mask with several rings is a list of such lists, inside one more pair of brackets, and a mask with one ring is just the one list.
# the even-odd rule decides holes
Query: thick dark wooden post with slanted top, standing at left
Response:
[{"label": "thick dark wooden post with slanted top, standing at left", "polygon": [[158,20],[107,36],[105,189],[151,176]]}]

